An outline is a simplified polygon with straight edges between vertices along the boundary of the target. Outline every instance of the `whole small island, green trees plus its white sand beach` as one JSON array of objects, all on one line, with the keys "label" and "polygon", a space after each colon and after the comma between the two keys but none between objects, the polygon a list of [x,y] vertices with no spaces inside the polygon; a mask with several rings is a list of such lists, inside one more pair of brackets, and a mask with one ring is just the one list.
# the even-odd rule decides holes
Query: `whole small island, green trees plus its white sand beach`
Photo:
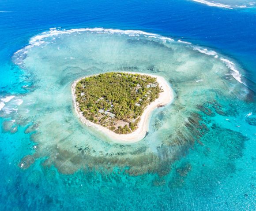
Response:
[{"label": "whole small island, green trees plus its white sand beach", "polygon": [[110,72],[86,76],[72,84],[75,112],[87,126],[120,142],[136,142],[148,131],[149,116],[173,100],[161,76]]}]

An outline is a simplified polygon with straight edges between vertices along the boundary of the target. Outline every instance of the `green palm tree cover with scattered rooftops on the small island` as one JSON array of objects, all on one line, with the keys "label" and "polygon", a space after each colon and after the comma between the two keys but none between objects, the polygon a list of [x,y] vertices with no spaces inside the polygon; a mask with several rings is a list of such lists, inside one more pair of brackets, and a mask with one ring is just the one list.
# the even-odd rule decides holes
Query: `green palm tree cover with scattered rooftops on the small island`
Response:
[{"label": "green palm tree cover with scattered rooftops on the small island", "polygon": [[83,116],[119,134],[136,129],[139,116],[160,92],[156,78],[128,73],[86,77],[75,87]]}]

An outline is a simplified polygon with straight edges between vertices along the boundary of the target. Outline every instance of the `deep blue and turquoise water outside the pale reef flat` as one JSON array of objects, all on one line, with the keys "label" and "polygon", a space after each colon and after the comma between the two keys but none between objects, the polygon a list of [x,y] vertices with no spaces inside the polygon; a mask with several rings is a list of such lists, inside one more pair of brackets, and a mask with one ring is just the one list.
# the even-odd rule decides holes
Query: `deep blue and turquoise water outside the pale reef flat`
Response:
[{"label": "deep blue and turquoise water outside the pale reef flat", "polygon": [[[245,70],[246,85],[255,98],[256,9],[230,10],[188,0],[1,0],[0,96],[27,92],[22,88],[26,83],[23,70],[13,63],[12,56],[31,37],[54,27],[141,30],[207,47]],[[1,124],[4,120],[0,117]],[[217,141],[208,143],[215,156],[207,156],[200,144],[188,149],[166,176],[166,181],[172,178],[174,188],[171,182],[151,186],[154,173],[131,176],[113,171],[104,176],[97,170],[78,170],[64,174],[55,166],[45,167],[46,157],[22,169],[19,163],[23,156],[34,152],[34,142],[24,133],[25,126],[15,133],[2,127],[0,210],[254,211],[256,126],[247,127],[241,129],[246,140],[228,152],[224,148],[233,142],[223,144],[218,133],[213,138]],[[205,142],[207,138],[210,140],[205,137]],[[212,167],[204,170],[202,166],[207,164]],[[178,169],[185,171],[186,177],[181,178]],[[177,185],[180,180],[185,185]]]}]

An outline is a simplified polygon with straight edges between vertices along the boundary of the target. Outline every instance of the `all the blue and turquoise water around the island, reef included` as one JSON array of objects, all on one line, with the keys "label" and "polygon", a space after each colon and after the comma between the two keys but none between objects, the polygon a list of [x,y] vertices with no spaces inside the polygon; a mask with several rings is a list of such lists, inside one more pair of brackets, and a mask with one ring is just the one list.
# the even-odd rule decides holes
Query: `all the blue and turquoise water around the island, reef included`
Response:
[{"label": "all the blue and turquoise water around the island, reef included", "polygon": [[[3,0],[0,38],[1,210],[256,209],[253,0]],[[130,145],[72,108],[120,70],[176,93]]]}]

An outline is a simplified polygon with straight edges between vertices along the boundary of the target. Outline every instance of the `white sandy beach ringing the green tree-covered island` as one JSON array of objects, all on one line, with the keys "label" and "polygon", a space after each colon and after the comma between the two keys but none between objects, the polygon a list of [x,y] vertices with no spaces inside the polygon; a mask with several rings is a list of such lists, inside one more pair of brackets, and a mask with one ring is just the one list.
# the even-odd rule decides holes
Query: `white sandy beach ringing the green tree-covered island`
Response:
[{"label": "white sandy beach ringing the green tree-covered island", "polygon": [[73,82],[73,84],[71,86],[73,106],[75,109],[75,113],[78,115],[79,120],[81,120],[83,124],[86,124],[88,127],[95,128],[97,131],[100,131],[102,133],[102,135],[105,135],[108,138],[110,138],[113,142],[135,143],[135,142],[139,142],[146,136],[148,129],[149,129],[149,122],[150,122],[149,120],[150,120],[152,111],[158,107],[166,106],[173,102],[174,91],[169,86],[168,82],[162,76],[156,76],[156,75],[147,74],[147,73],[123,72],[123,71],[120,71],[120,73],[140,74],[140,75],[147,75],[147,76],[154,77],[154,78],[156,78],[156,80],[159,84],[159,87],[162,88],[162,90],[163,90],[159,94],[159,97],[154,102],[151,102],[146,107],[146,109],[143,111],[142,115],[140,116],[140,121],[138,123],[137,129],[135,131],[132,131],[132,133],[128,133],[128,134],[117,134],[113,131],[110,131],[106,127],[103,127],[99,124],[95,124],[95,123],[87,120],[83,116],[83,113],[81,111],[79,111],[79,106],[77,105],[77,102],[75,100],[75,98],[76,98],[75,86],[76,86],[77,82],[79,82],[80,80],[82,80],[84,78],[87,78],[90,76],[96,76],[98,74],[81,77]]}]

